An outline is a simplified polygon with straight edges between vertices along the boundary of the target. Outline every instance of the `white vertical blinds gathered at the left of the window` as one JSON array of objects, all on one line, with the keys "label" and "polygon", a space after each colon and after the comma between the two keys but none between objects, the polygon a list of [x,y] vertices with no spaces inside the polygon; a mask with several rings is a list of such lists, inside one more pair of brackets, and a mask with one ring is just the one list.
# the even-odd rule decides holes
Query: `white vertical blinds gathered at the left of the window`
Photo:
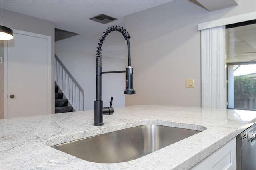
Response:
[{"label": "white vertical blinds gathered at the left of the window", "polygon": [[225,26],[201,30],[202,108],[226,109]]}]

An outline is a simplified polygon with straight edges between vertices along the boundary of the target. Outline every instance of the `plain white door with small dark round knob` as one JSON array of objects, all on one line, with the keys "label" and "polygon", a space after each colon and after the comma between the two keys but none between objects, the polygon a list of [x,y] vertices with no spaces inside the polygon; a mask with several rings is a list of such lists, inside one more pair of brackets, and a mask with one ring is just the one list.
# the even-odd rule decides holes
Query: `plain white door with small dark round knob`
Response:
[{"label": "plain white door with small dark round knob", "polygon": [[18,33],[8,40],[8,118],[50,114],[48,43]]}]

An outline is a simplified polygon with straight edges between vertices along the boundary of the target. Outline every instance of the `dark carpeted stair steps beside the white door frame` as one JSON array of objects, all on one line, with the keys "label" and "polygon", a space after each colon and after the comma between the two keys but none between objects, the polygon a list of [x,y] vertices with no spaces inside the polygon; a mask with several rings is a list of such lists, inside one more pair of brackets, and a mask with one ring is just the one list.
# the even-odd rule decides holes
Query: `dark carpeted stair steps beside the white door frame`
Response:
[{"label": "dark carpeted stair steps beside the white door frame", "polygon": [[68,106],[68,99],[63,99],[63,93],[59,92],[59,87],[55,84],[55,113],[72,111],[73,107]]}]

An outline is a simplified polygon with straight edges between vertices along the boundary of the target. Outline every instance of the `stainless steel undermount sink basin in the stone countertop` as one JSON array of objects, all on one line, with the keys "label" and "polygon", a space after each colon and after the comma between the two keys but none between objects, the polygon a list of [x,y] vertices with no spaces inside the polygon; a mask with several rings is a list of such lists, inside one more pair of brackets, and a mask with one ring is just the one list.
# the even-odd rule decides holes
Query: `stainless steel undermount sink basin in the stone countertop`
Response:
[{"label": "stainless steel undermount sink basin in the stone countertop", "polygon": [[141,125],[52,147],[90,162],[118,163],[140,158],[198,132],[162,125]]}]

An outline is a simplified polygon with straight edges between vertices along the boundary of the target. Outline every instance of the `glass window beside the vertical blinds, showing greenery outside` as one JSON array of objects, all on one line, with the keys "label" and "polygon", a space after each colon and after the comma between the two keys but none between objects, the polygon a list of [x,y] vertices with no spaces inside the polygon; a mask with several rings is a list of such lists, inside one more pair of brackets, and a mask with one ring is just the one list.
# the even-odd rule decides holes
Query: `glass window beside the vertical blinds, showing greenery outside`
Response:
[{"label": "glass window beside the vertical blinds, showing greenery outside", "polygon": [[228,109],[256,110],[256,20],[226,26]]}]

